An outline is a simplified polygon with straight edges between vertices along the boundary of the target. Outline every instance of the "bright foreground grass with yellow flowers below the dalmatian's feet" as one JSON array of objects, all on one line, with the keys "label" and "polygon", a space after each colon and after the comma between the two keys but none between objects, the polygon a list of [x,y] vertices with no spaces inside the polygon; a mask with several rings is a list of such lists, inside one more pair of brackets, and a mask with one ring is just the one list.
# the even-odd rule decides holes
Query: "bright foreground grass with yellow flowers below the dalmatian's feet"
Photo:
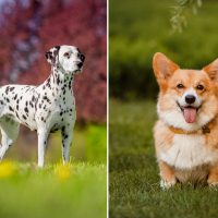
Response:
[{"label": "bright foreground grass with yellow flowers below the dalmatian's feet", "polygon": [[[44,169],[33,164],[2,165],[0,217],[106,218],[105,165],[72,162],[66,169],[60,164]],[[2,175],[4,171],[9,174]]]}]

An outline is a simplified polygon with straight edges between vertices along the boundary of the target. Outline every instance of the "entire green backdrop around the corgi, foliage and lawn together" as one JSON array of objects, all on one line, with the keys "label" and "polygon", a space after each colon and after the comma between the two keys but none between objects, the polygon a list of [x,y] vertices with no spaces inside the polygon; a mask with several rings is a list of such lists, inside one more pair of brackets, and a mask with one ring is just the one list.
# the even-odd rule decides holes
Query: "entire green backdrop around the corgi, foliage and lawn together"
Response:
[{"label": "entire green backdrop around the corgi, foliage and lawn together", "polygon": [[[217,217],[218,190],[192,184],[159,186],[153,126],[158,86],[155,52],[181,68],[201,69],[218,58],[218,1],[203,0],[187,26],[173,33],[171,10],[189,0],[109,1],[110,218]],[[190,0],[190,2],[197,0]]]}]

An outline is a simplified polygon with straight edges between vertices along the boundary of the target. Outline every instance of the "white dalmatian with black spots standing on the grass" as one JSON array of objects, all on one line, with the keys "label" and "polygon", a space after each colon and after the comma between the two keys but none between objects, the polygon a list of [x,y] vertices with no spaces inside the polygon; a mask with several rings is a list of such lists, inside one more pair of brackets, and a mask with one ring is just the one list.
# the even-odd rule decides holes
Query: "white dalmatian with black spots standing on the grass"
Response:
[{"label": "white dalmatian with black spots standing on the grass", "polygon": [[62,135],[63,164],[70,159],[70,146],[76,120],[72,90],[74,75],[82,72],[84,55],[74,46],[56,46],[46,52],[50,76],[39,86],[5,85],[0,87],[0,159],[16,140],[20,124],[37,131],[38,166],[44,166],[50,133]]}]

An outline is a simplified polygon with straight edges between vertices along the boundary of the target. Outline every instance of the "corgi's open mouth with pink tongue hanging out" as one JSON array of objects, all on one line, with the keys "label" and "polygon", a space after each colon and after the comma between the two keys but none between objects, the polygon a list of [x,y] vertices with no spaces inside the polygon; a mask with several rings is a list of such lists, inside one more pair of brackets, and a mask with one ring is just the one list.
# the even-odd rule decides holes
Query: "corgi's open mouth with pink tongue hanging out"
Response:
[{"label": "corgi's open mouth with pink tongue hanging out", "polygon": [[193,107],[193,106],[182,107],[182,106],[180,106],[179,102],[178,102],[178,106],[180,107],[186,123],[194,123],[196,121],[197,111],[198,111],[199,107],[197,107],[197,108]]}]

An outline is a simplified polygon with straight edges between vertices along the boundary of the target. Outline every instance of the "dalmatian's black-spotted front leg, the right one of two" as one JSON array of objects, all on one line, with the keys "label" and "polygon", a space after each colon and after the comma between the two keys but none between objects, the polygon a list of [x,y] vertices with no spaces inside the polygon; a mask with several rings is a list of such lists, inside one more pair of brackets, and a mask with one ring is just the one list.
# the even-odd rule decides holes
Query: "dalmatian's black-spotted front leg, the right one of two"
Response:
[{"label": "dalmatian's black-spotted front leg, the right one of two", "polygon": [[63,164],[68,164],[70,160],[70,148],[73,141],[73,126],[63,126],[61,129],[61,135]]}]

